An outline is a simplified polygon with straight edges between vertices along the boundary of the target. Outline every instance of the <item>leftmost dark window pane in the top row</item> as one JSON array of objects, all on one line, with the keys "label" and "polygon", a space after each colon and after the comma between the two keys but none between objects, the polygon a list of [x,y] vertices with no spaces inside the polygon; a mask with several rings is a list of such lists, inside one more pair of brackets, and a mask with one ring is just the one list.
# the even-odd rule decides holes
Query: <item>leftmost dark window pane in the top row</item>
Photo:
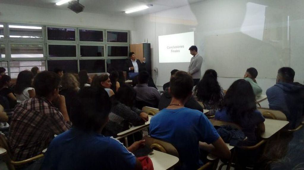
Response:
[{"label": "leftmost dark window pane in the top row", "polygon": [[75,29],[47,28],[48,40],[75,41]]}]

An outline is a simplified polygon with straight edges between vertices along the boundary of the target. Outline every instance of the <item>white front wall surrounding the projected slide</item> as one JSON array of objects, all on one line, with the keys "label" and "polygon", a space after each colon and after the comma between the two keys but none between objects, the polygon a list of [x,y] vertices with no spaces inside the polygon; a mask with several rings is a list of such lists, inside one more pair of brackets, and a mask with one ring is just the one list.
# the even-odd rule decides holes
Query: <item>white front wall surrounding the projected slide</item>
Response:
[{"label": "white front wall surrounding the projected slide", "polygon": [[303,7],[301,0],[207,0],[136,17],[131,43],[151,43],[152,68],[158,68],[153,78],[161,87],[171,70],[186,71],[189,63],[159,63],[158,36],[194,31],[202,74],[215,69],[227,89],[248,67],[256,67],[265,94],[283,66],[292,67],[295,81],[304,83]]}]

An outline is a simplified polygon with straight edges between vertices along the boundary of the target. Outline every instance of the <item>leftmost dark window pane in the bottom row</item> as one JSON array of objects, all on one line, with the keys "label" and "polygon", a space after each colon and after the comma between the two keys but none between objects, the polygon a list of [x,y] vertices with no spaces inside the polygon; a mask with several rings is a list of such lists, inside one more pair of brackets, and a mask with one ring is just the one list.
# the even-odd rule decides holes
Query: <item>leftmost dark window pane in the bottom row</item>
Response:
[{"label": "leftmost dark window pane in the bottom row", "polygon": [[47,70],[54,71],[60,68],[64,73],[78,73],[77,60],[48,60]]}]

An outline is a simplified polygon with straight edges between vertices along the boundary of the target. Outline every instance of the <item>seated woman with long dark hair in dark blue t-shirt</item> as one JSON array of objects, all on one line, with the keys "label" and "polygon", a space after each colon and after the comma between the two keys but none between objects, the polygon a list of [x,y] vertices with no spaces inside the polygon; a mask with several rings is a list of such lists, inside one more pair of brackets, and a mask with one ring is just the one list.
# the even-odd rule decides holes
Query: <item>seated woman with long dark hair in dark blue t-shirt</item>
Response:
[{"label": "seated woman with long dark hair in dark blue t-shirt", "polygon": [[227,90],[220,110],[216,111],[215,119],[233,122],[242,127],[248,145],[258,141],[256,130],[265,131],[262,113],[257,110],[255,96],[249,82],[244,79],[236,80]]}]

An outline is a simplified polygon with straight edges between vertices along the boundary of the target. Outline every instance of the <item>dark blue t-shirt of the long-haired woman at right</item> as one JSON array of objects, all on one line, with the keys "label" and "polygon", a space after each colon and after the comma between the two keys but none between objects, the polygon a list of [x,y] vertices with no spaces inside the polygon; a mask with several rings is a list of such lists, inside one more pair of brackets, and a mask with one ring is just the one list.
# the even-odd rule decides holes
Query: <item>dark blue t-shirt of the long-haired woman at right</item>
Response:
[{"label": "dark blue t-shirt of the long-haired woman at right", "polygon": [[[215,119],[221,120],[224,122],[233,122],[230,115],[227,113],[226,108],[222,110],[217,110],[215,113]],[[242,121],[240,121],[240,126],[242,127],[242,131],[244,132],[245,136],[248,138],[248,143],[256,143],[257,138],[255,135],[255,128],[259,123],[263,123],[265,118],[263,117],[262,113],[258,110],[255,110],[250,116],[245,116]]]}]

